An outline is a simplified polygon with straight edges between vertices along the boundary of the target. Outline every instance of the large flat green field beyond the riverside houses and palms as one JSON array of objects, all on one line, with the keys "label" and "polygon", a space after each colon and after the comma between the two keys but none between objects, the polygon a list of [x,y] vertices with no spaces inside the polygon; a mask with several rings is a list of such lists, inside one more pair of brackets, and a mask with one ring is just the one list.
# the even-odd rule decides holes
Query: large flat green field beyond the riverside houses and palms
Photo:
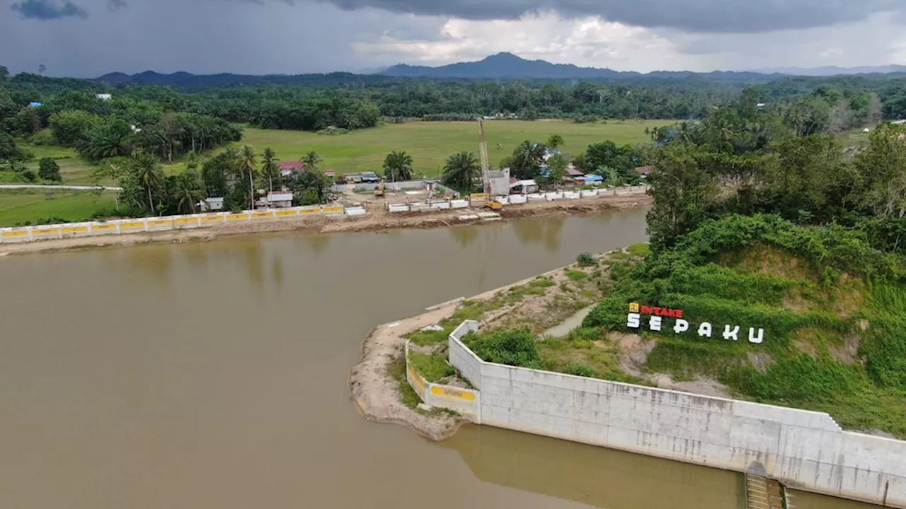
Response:
[{"label": "large flat green field beyond the riverside houses and palms", "polygon": [[[648,141],[645,128],[670,124],[672,120],[608,121],[606,124],[576,124],[563,120],[487,120],[485,134],[492,165],[513,153],[520,142],[545,142],[552,134],[564,137],[562,150],[573,155],[588,145],[611,139],[618,145]],[[478,155],[477,122],[425,122],[384,125],[342,135],[319,135],[291,130],[246,128],[246,137],[234,144],[251,145],[260,152],[275,150],[280,160],[297,160],[309,150],[324,159],[324,168],[340,173],[379,171],[391,150],[405,150],[413,158],[415,171],[429,177],[439,175],[446,158],[459,150]],[[498,146],[499,144],[499,146]]]}]

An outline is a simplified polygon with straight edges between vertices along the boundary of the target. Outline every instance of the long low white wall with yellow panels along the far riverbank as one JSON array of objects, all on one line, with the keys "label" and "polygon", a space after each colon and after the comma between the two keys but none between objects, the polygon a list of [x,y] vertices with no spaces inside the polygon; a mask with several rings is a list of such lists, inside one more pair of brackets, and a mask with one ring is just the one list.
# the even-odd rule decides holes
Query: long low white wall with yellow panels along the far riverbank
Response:
[{"label": "long low white wall with yellow panels along the far riverbank", "polygon": [[[350,216],[361,216],[364,209],[351,209]],[[345,214],[342,205],[294,206],[271,210],[246,210],[237,214],[229,212],[211,214],[192,214],[188,216],[142,217],[120,219],[116,221],[92,221],[86,223],[66,223],[63,225],[21,226],[0,228],[0,244],[33,242],[47,239],[84,237],[97,235],[124,235],[144,232],[165,232],[169,230],[186,230],[205,228],[222,223],[248,222],[260,219],[285,219],[296,216],[326,215],[340,216]]]}]

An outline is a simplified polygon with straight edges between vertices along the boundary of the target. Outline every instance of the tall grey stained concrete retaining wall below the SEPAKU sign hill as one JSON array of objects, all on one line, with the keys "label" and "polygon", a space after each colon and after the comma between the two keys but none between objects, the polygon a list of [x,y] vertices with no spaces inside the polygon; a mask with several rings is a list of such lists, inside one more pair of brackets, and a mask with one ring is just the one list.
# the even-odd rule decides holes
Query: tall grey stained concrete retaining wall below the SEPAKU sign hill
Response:
[{"label": "tall grey stained concrete retaining wall below the SEPAKU sign hill", "polygon": [[478,389],[481,423],[774,478],[824,495],[906,508],[906,442],[843,431],[820,412],[484,362],[449,336]]}]

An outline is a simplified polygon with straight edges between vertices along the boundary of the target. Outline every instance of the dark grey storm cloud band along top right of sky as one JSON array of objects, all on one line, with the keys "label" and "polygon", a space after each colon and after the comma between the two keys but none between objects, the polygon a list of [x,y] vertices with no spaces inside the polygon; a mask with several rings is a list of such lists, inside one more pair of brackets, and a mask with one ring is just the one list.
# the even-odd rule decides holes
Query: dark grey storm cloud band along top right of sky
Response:
[{"label": "dark grey storm cloud band along top right of sky", "polygon": [[906,12],[902,0],[319,0],[353,10],[515,19],[538,10],[564,16],[699,33],[754,33],[861,21],[879,12]]}]

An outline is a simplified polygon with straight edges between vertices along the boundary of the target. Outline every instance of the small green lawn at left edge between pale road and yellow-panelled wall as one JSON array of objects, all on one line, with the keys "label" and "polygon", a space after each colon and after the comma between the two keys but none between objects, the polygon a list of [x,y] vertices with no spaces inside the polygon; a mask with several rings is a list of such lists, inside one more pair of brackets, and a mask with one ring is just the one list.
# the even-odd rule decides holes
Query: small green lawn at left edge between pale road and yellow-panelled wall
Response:
[{"label": "small green lawn at left edge between pale road and yellow-panelled wall", "polygon": [[98,195],[91,191],[0,189],[0,226],[38,225],[51,218],[91,220],[97,211],[112,211],[115,196],[112,191]]}]

